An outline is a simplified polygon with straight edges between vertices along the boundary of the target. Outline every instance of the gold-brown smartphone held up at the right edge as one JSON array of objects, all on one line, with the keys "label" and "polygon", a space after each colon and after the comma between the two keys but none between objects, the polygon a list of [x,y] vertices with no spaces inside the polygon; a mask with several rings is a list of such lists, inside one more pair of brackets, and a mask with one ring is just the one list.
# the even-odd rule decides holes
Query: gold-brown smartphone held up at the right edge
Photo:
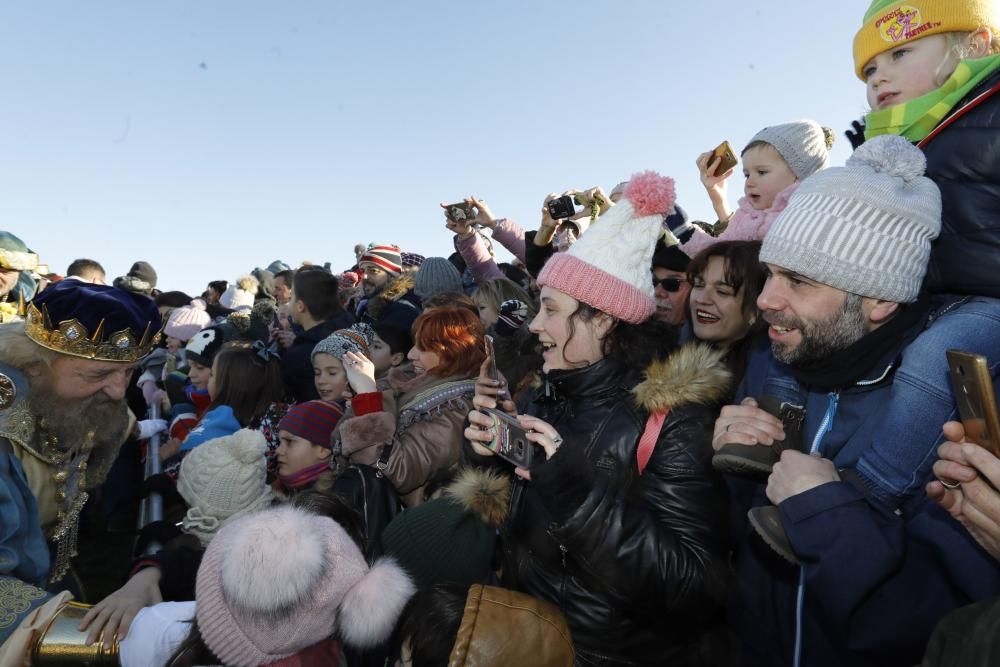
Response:
[{"label": "gold-brown smartphone held up at the right edge", "polygon": [[1000,457],[1000,416],[986,357],[960,350],[945,354],[966,439]]}]

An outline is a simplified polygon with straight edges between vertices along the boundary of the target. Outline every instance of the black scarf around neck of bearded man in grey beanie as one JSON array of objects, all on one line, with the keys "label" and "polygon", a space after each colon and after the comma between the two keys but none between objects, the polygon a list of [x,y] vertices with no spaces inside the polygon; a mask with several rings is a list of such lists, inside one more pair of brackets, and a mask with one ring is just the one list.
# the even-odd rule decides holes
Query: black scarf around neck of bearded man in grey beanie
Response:
[{"label": "black scarf around neck of bearded man in grey beanie", "polygon": [[792,367],[792,374],[810,389],[846,389],[864,379],[893,348],[901,349],[908,343],[907,332],[927,316],[928,310],[929,300],[921,294],[914,303],[901,304],[896,316],[875,331],[823,359]]}]

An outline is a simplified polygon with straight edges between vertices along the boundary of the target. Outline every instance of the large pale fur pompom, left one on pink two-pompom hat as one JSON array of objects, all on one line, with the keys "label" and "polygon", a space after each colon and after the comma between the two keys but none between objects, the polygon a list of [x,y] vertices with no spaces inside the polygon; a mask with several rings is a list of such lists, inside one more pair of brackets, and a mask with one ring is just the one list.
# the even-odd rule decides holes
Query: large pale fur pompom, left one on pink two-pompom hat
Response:
[{"label": "large pale fur pompom, left one on pink two-pompom hat", "polygon": [[[307,597],[326,568],[322,527],[314,520],[321,521],[292,507],[240,519],[242,529],[222,567],[222,590],[229,603],[246,612],[266,613]],[[279,564],[280,572],[275,569]]]}]

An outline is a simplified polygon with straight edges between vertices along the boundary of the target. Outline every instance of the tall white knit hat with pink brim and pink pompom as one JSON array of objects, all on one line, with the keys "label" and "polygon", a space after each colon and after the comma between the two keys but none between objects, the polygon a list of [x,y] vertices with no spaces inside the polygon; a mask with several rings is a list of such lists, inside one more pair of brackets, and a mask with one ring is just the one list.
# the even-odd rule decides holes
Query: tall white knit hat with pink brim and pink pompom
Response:
[{"label": "tall white knit hat with pink brim and pink pompom", "polygon": [[653,250],[674,199],[673,179],[652,171],[634,175],[611,210],[545,263],[539,287],[548,285],[632,324],[646,321],[656,312]]}]

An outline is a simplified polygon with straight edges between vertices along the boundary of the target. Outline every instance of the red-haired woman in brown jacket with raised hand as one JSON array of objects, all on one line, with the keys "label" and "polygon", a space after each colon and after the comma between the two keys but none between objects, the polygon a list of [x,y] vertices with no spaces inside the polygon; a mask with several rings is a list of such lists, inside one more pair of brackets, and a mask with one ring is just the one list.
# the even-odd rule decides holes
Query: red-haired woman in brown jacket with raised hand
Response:
[{"label": "red-haired woman in brown jacket with raised hand", "polygon": [[403,504],[422,503],[458,464],[465,415],[486,358],[484,335],[479,318],[465,308],[424,313],[413,323],[407,355],[416,376],[393,369],[386,391],[376,388],[372,362],[347,352],[344,370],[355,396],[337,424],[334,453],[350,463],[383,462]]}]

